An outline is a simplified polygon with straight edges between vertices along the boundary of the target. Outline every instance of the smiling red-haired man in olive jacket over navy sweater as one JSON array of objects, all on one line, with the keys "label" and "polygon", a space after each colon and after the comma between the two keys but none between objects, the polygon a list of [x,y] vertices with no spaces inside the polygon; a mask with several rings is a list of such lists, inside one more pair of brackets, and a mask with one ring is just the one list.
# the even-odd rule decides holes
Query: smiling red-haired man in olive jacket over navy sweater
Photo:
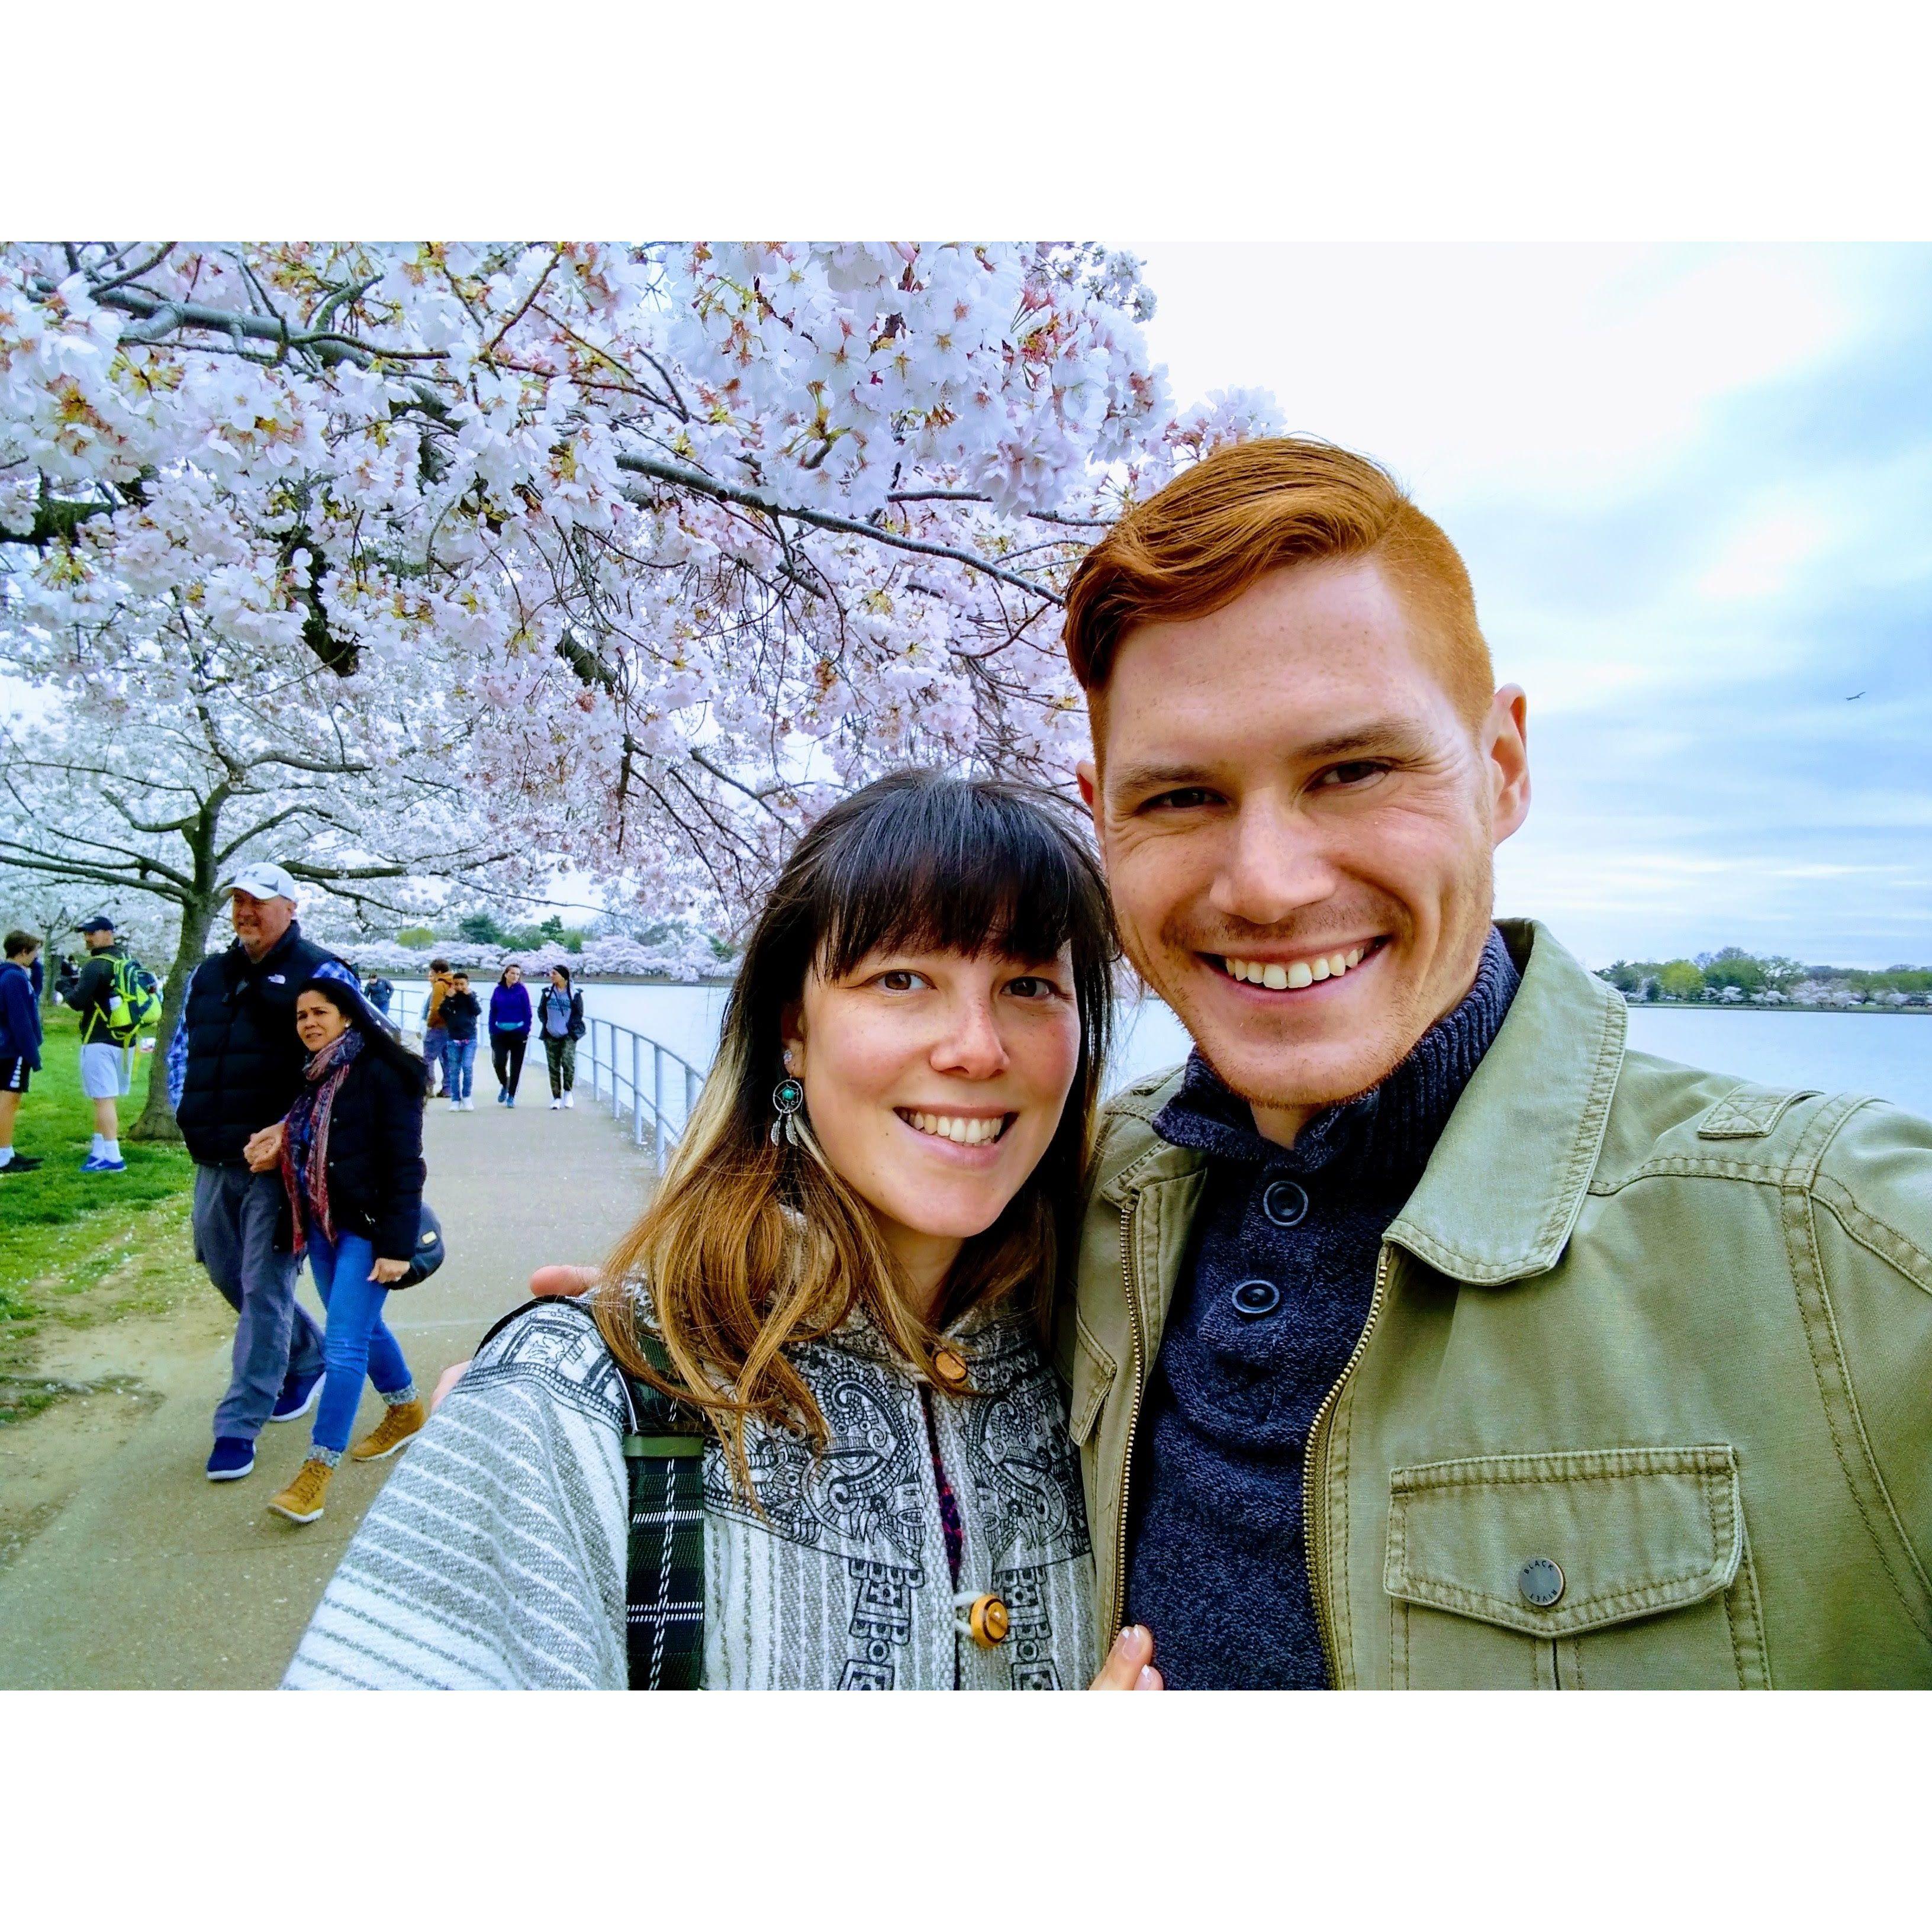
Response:
[{"label": "smiling red-haired man in olive jacket over navy sweater", "polygon": [[[1267,440],[1084,560],[1126,949],[1061,1321],[1109,1627],[1173,1687],[1932,1683],[1932,1126],[1625,1051],[1495,925],[1530,804],[1468,574]],[[1119,1656],[1119,1652],[1117,1652]]]}]

